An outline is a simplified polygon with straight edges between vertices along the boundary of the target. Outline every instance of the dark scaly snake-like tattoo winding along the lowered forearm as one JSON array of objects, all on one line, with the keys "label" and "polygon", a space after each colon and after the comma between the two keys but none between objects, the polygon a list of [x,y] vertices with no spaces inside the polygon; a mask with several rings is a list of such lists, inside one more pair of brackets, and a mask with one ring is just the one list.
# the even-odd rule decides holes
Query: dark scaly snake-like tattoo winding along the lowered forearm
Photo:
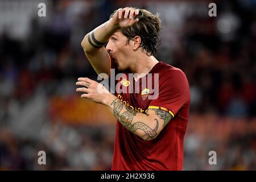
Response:
[{"label": "dark scaly snake-like tattoo winding along the lowered forearm", "polygon": [[137,130],[144,131],[145,134],[142,136],[144,140],[155,138],[158,135],[156,133],[159,127],[158,119],[154,119],[154,121],[156,121],[156,127],[154,129],[151,129],[151,127],[147,126],[143,122],[135,122],[131,124],[134,116],[137,115],[136,111],[132,110],[130,107],[125,106],[126,111],[121,113],[124,105],[120,100],[117,99],[115,99],[111,105],[113,105],[114,116],[123,126],[126,127],[127,130],[131,131],[132,133],[135,133]]}]

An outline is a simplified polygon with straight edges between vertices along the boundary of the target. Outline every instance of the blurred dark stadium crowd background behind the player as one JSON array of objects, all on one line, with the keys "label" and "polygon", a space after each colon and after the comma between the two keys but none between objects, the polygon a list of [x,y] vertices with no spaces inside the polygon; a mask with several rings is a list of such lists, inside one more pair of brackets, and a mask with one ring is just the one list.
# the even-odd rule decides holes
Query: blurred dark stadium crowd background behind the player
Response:
[{"label": "blurred dark stadium crowd background behind the player", "polygon": [[[46,17],[38,16],[40,2]],[[217,17],[208,16],[210,2]],[[125,6],[160,13],[158,59],[188,77],[183,169],[255,170],[255,0],[1,0],[0,169],[110,169],[115,119],[81,100],[75,82],[97,79],[81,48],[84,35]],[[40,150],[47,165],[38,164]],[[208,163],[211,150],[217,165]]]}]

